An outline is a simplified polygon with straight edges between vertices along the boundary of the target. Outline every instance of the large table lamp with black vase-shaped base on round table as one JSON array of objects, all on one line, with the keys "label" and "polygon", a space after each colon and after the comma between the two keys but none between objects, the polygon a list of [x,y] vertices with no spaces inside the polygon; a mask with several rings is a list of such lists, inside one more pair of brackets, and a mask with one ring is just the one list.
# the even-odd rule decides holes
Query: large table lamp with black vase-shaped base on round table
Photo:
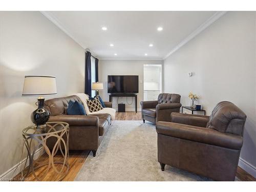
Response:
[{"label": "large table lamp with black vase-shaped base on round table", "polygon": [[38,109],[31,114],[31,120],[37,129],[44,129],[50,118],[50,113],[44,109],[45,95],[56,95],[56,78],[53,76],[25,76],[23,96],[39,96],[37,98]]}]

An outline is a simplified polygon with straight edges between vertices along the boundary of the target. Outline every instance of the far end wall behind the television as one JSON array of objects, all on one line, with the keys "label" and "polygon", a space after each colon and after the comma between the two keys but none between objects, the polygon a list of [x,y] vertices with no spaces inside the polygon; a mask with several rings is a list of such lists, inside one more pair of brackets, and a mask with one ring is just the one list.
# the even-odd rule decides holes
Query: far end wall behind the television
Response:
[{"label": "far end wall behind the television", "polygon": [[[104,101],[109,101],[108,75],[139,75],[139,93],[137,98],[138,111],[141,110],[140,101],[143,100],[143,65],[162,64],[161,60],[99,60],[99,81],[104,83],[104,90],[99,95]],[[117,98],[113,98],[113,108],[117,109]],[[129,104],[132,97],[127,97]],[[125,103],[125,111],[135,111],[135,99],[132,105],[127,104],[126,97],[119,97],[118,103]]]}]

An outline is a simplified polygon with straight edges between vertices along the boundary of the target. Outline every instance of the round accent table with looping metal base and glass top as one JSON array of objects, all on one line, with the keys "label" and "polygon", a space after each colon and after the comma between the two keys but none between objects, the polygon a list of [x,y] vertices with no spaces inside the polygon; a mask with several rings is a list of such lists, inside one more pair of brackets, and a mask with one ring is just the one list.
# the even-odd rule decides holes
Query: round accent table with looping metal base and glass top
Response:
[{"label": "round accent table with looping metal base and glass top", "polygon": [[[22,163],[22,178],[26,179],[31,173],[37,181],[41,181],[51,171],[61,181],[69,172],[69,124],[65,122],[48,122],[44,129],[37,129],[36,126],[28,126],[23,132],[22,159],[24,147],[27,149],[27,158]],[[47,162],[34,163],[34,156],[37,153],[46,153]],[[58,157],[54,158],[57,154]],[[38,164],[39,163],[39,164]],[[44,166],[47,166],[46,168]],[[36,169],[42,167],[39,174]],[[44,168],[43,168],[44,167]]]}]

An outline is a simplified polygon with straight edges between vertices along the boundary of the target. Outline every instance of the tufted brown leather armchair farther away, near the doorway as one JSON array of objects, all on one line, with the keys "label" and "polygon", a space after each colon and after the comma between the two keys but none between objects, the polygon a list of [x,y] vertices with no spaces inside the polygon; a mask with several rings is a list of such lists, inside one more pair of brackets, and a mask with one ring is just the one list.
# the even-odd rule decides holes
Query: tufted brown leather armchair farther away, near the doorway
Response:
[{"label": "tufted brown leather armchair farther away, near the doorway", "polygon": [[156,123],[170,121],[172,112],[180,112],[180,95],[161,93],[156,101],[141,101],[141,118]]}]

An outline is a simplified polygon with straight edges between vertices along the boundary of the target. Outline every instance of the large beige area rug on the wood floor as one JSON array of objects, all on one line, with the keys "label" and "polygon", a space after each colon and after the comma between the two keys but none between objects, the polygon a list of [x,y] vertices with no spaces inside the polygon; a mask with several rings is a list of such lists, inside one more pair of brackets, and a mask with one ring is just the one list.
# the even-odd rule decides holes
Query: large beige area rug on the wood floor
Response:
[{"label": "large beige area rug on the wood floor", "polygon": [[84,162],[75,181],[210,181],[157,161],[155,125],[142,121],[113,121],[98,148]]}]

